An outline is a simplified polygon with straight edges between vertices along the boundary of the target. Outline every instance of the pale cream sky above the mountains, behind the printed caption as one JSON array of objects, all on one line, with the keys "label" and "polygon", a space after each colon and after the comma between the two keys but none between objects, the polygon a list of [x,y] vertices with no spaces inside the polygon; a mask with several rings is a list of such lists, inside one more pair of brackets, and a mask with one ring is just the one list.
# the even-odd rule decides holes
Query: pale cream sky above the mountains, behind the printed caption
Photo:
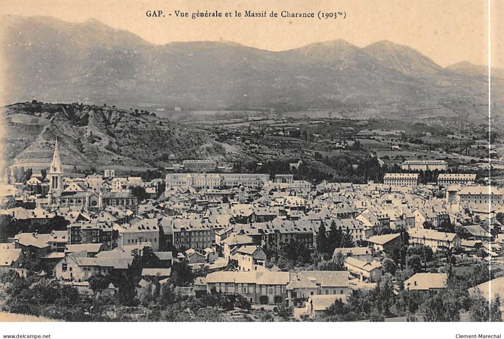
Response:
[{"label": "pale cream sky above the mountains, behind the printed caption", "polygon": [[[504,68],[504,1],[492,5],[492,61]],[[165,17],[146,16],[162,10]],[[176,18],[174,11],[345,12],[346,18]],[[234,41],[280,51],[313,42],[344,39],[359,47],[380,40],[413,47],[441,66],[467,60],[488,65],[487,0],[346,0],[346,1],[223,1],[223,0],[2,0],[0,13],[52,16],[83,22],[90,18],[165,44],[173,41]],[[169,16],[168,14],[172,14]],[[499,15],[500,13],[500,15]]]}]

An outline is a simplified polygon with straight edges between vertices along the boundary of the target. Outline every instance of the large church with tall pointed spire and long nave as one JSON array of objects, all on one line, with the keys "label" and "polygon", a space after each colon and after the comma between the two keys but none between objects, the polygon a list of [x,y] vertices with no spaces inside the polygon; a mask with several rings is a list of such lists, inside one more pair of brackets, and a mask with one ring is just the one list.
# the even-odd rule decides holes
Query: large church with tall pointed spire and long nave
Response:
[{"label": "large church with tall pointed spire and long nave", "polygon": [[65,186],[64,172],[58,150],[58,140],[54,143],[51,166],[47,177],[49,192],[43,205],[49,208],[68,207],[73,210],[99,211],[106,206],[124,207],[134,212],[138,208],[138,198],[127,191],[103,192],[101,189],[84,189],[73,183]]}]

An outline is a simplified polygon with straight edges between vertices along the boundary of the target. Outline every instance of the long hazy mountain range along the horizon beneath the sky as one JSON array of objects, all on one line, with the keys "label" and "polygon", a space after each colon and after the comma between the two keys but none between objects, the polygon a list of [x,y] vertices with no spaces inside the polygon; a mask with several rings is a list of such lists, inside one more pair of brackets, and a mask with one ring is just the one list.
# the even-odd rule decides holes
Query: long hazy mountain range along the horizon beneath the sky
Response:
[{"label": "long hazy mountain range along the horizon beneath the sky", "polygon": [[[233,42],[154,45],[99,21],[4,18],[8,102],[78,102],[188,110],[456,107],[484,119],[486,68],[446,68],[408,46],[344,40],[272,52]],[[501,71],[501,70],[498,70]],[[496,71],[496,74],[502,74]],[[502,79],[492,86],[501,104]],[[452,105],[453,104],[453,105]],[[402,112],[404,113],[404,112]]]}]

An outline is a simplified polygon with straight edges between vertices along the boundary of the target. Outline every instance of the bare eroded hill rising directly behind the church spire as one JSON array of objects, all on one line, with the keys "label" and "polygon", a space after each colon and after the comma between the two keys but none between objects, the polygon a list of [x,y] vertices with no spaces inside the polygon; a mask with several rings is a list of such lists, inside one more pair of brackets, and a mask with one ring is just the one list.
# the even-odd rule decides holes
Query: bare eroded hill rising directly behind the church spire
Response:
[{"label": "bare eroded hill rising directly behind the church spire", "polygon": [[2,111],[5,158],[18,166],[47,166],[55,138],[67,169],[163,166],[170,154],[222,157],[222,146],[204,131],[146,111],[45,103],[18,103]]}]

